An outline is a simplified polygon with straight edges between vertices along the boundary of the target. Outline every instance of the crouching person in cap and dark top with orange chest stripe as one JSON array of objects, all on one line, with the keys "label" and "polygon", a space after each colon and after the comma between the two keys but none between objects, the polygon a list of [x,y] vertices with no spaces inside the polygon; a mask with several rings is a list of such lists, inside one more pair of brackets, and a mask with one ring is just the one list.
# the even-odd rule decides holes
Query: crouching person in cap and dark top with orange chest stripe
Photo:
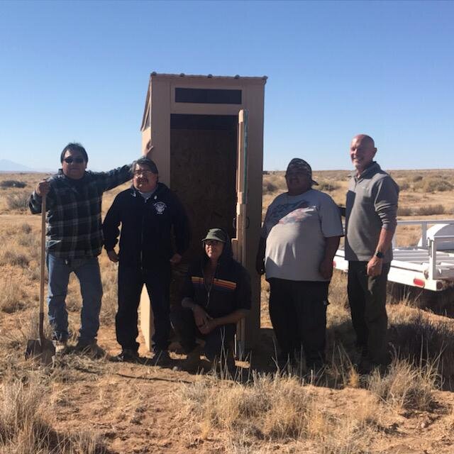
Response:
[{"label": "crouching person in cap and dark top with orange chest stripe", "polygon": [[172,309],[170,319],[187,360],[185,370],[196,370],[202,348],[215,365],[233,367],[233,336],[236,323],[250,310],[250,277],[233,260],[230,238],[220,228],[211,228],[202,240],[201,260],[189,266],[182,292],[182,306]]}]

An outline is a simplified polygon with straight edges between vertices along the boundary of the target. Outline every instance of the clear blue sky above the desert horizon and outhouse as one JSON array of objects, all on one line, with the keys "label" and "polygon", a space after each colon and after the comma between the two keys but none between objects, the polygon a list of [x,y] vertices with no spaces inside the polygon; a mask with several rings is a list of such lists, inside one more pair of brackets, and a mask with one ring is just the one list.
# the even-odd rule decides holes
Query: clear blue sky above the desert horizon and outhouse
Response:
[{"label": "clear blue sky above the desert horizon and outhouse", "polygon": [[454,167],[452,1],[0,1],[0,159],[140,153],[149,74],[267,75],[264,168]]}]

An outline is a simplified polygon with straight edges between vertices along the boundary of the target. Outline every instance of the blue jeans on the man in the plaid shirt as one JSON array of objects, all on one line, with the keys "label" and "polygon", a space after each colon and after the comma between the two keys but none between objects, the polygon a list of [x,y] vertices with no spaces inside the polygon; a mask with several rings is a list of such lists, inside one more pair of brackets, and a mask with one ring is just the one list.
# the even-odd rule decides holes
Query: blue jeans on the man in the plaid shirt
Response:
[{"label": "blue jeans on the man in the plaid shirt", "polygon": [[47,255],[49,285],[48,314],[52,326],[52,338],[66,341],[68,338],[68,313],[66,294],[70,274],[74,272],[79,279],[82,294],[79,341],[92,342],[99,329],[99,311],[101,311],[102,284],[97,257],[83,259],[57,258]]}]

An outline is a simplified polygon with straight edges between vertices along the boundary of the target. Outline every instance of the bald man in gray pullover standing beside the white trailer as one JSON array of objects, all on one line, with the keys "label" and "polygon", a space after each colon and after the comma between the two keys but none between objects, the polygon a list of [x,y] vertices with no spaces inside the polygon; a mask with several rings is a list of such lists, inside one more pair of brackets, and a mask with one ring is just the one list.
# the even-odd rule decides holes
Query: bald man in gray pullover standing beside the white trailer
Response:
[{"label": "bald man in gray pullover standing beside the white trailer", "polygon": [[345,213],[348,302],[365,373],[387,362],[386,284],[399,199],[399,187],[373,160],[375,153],[369,135],[355,135],[350,158],[356,172]]}]

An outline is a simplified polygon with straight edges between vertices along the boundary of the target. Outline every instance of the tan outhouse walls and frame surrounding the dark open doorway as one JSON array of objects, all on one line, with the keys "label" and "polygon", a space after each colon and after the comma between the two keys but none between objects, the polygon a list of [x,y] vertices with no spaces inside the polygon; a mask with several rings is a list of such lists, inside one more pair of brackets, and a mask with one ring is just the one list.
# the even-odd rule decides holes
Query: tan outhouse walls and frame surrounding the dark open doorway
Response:
[{"label": "tan outhouse walls and frame surrounding the dark open doorway", "polygon": [[[248,206],[246,231],[246,263],[253,289],[252,310],[246,321],[245,344],[252,348],[260,328],[260,277],[255,272],[255,254],[260,237],[262,216],[262,160],[263,114],[266,77],[209,77],[155,74],[150,76],[142,125],[142,145],[151,140],[153,160],[159,170],[160,182],[172,188],[171,116],[238,116],[240,109],[248,109]],[[198,104],[176,102],[175,88],[236,89],[241,90],[241,104]],[[238,150],[237,150],[238,151]],[[174,161],[175,162],[175,161]],[[175,182],[173,182],[175,186]],[[173,188],[172,188],[173,189]],[[201,201],[203,203],[203,200]],[[236,203],[236,201],[233,201]],[[235,206],[233,205],[233,211]],[[214,227],[214,226],[211,226]],[[199,245],[201,238],[192,238]],[[153,314],[150,301],[143,292],[140,303],[140,324],[148,348],[151,348]]]}]

